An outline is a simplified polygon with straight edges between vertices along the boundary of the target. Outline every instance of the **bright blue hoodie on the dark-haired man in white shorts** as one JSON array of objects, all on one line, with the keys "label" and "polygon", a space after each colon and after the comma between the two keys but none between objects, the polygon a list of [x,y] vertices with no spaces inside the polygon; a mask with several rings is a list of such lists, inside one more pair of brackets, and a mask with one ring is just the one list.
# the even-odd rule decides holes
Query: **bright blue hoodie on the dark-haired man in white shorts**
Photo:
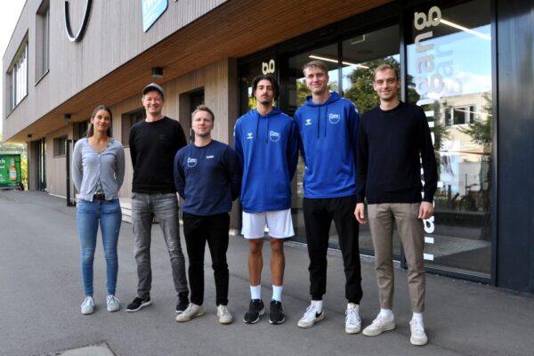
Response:
[{"label": "bright blue hoodie on the dark-haired man in white shorts", "polygon": [[241,204],[246,213],[291,207],[291,180],[298,160],[295,121],[280,109],[257,109],[239,117],[234,146],[243,172]]}]

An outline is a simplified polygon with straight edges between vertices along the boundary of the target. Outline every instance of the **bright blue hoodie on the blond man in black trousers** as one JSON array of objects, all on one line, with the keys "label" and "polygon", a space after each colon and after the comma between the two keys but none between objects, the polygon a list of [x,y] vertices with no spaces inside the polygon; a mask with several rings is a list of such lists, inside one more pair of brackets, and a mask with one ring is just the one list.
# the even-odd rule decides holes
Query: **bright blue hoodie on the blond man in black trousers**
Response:
[{"label": "bright blue hoodie on the blond man in black trousers", "polygon": [[304,198],[339,198],[356,194],[356,148],[360,115],[351,102],[330,93],[315,104],[307,97],[295,112],[304,159]]}]

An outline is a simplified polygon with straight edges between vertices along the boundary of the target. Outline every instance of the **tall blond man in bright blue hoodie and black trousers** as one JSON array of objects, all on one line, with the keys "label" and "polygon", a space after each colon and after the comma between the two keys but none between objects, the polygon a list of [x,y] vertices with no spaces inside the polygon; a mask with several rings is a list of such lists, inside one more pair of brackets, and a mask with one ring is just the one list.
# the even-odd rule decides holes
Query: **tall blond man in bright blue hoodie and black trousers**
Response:
[{"label": "tall blond man in bright blue hoodie and black trousers", "polygon": [[351,101],[328,91],[328,67],[322,61],[304,65],[306,85],[312,92],[295,112],[305,171],[303,213],[310,256],[312,303],[298,321],[312,328],[322,319],[322,297],[327,293],[328,231],[336,224],[345,272],[345,332],[360,332],[360,247],[356,206],[356,140],[360,116]]}]

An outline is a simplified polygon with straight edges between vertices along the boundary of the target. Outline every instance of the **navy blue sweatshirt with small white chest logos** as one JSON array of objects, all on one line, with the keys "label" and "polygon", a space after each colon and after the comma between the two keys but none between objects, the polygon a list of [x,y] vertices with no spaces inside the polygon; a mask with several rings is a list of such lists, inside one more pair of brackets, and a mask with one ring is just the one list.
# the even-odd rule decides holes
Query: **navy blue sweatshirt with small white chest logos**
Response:
[{"label": "navy blue sweatshirt with small white chest logos", "polygon": [[239,197],[240,171],[230,146],[209,142],[204,147],[190,143],[174,157],[174,185],[185,202],[182,210],[208,216],[231,211]]}]

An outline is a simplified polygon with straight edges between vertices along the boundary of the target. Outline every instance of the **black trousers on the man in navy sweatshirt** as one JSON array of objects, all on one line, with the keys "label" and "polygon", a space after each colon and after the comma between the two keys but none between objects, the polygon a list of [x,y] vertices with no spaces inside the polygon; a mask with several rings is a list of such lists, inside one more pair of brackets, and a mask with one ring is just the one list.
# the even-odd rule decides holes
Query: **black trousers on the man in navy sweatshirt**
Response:
[{"label": "black trousers on the man in navy sweatshirt", "polygon": [[204,303],[204,251],[207,242],[214,269],[215,303],[227,305],[229,272],[226,251],[230,215],[198,216],[183,212],[182,218],[189,256],[190,302],[198,305]]}]

